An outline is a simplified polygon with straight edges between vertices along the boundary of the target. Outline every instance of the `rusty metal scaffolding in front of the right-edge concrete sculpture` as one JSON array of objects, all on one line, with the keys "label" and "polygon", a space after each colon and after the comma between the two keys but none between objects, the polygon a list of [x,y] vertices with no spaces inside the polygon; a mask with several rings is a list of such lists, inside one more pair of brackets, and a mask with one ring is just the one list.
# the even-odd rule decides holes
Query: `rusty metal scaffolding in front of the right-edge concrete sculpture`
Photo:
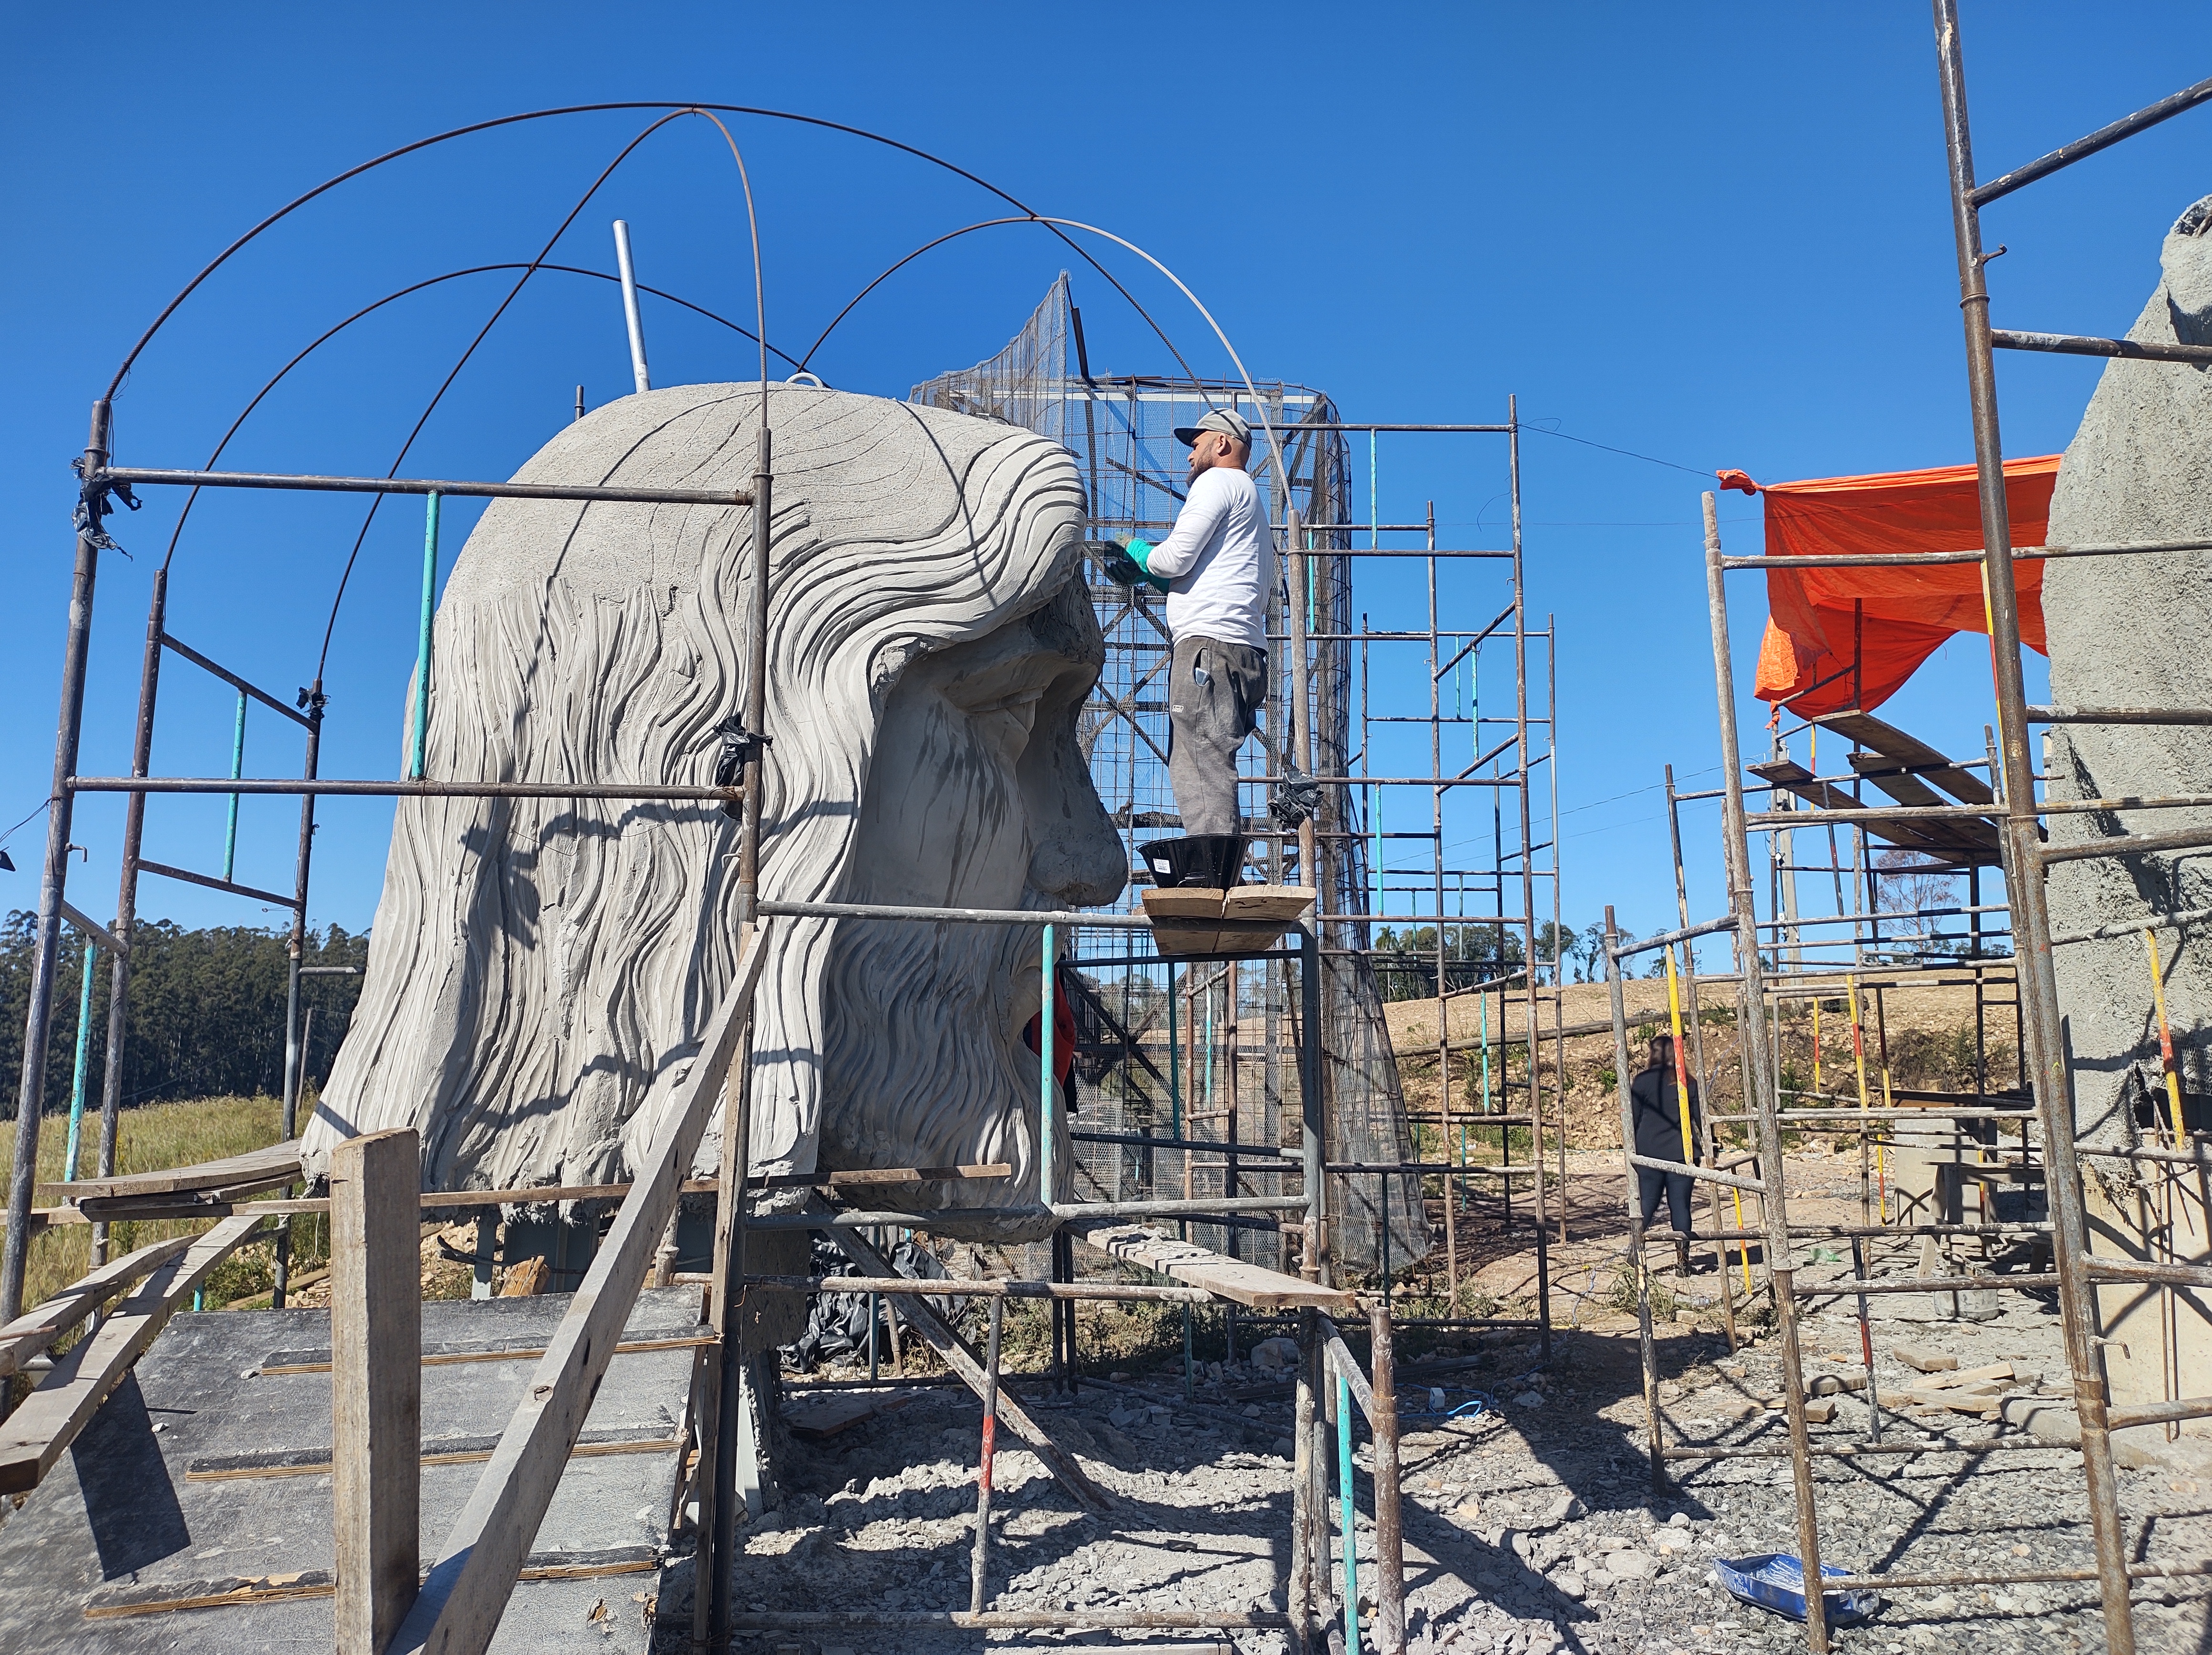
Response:
[{"label": "rusty metal scaffolding in front of the right-edge concrete sculpture", "polygon": [[[2159,104],[2152,104],[2135,115],[2112,122],[2110,126],[2090,133],[2088,137],[2053,150],[2013,173],[2006,173],[1989,184],[1975,181],[1973,170],[1973,148],[1969,139],[1966,119],[1966,82],[1964,82],[1964,55],[1960,44],[1960,20],[1958,0],[1933,0],[1936,18],[1936,53],[1942,82],[1942,113],[1944,113],[1944,137],[1949,150],[1949,175],[1951,175],[1951,208],[1953,208],[1953,230],[1958,241],[1958,277],[1960,277],[1960,312],[1964,319],[1964,341],[1966,341],[1966,383],[1969,403],[1973,412],[1973,443],[1975,443],[1975,469],[1978,469],[1978,491],[1982,511],[1982,549],[1969,553],[1860,553],[1860,555],[1805,555],[1792,558],[1792,566],[1869,566],[1869,564],[1898,564],[1911,566],[1922,562],[1980,562],[1984,569],[1984,593],[1989,595],[1989,628],[1991,628],[1991,655],[1993,655],[1993,679],[1995,679],[1995,735],[1991,741],[1991,752],[1986,761],[1949,761],[1951,768],[1964,768],[1969,763],[1986,763],[1989,781],[1993,788],[1993,801],[1989,805],[1878,805],[1865,808],[1860,801],[1836,803],[1814,812],[1812,816],[1803,812],[1752,812],[1745,803],[1745,763],[1736,741],[1736,697],[1734,697],[1734,673],[1730,662],[1730,633],[1728,633],[1728,597],[1725,597],[1725,575],[1732,571],[1756,571],[1765,569],[1765,558],[1730,558],[1721,551],[1719,520],[1714,511],[1714,496],[1703,496],[1705,509],[1705,589],[1712,617],[1712,653],[1714,653],[1714,675],[1719,690],[1719,719],[1721,719],[1721,763],[1725,774],[1723,801],[1723,850],[1728,863],[1728,894],[1730,912],[1721,920],[1708,920],[1703,925],[1688,923],[1688,905],[1681,903],[1683,927],[1668,931],[1657,938],[1646,938],[1644,943],[1626,943],[1617,927],[1613,925],[1613,909],[1606,909],[1606,976],[1613,987],[1613,1029],[1615,1029],[1615,1062],[1621,1078],[1621,1135],[1624,1135],[1624,1164],[1628,1170],[1630,1188],[1635,1186],[1637,1168],[1655,1168],[1670,1173],[1686,1173],[1692,1179],[1705,1182],[1708,1186],[1725,1186],[1743,1190],[1759,1201],[1759,1224],[1756,1228],[1714,1228],[1710,1235],[1699,1235],[1699,1239],[1714,1241],[1739,1241],[1759,1239],[1767,1266],[1767,1288],[1774,1301],[1776,1330],[1781,1343],[1781,1372],[1783,1372],[1783,1403],[1787,1418],[1787,1445],[1785,1447],[1694,1447],[1694,1445],[1668,1445],[1663,1432],[1663,1416],[1657,1398],[1657,1370],[1652,1361],[1650,1343],[1650,1301],[1648,1301],[1648,1272],[1644,1268],[1644,1226],[1641,1210],[1635,1199],[1628,1204],[1630,1219],[1630,1248],[1637,1266],[1639,1283],[1639,1343],[1644,1354],[1646,1374],[1646,1407],[1648,1407],[1648,1449],[1652,1465],[1655,1487],[1666,1482],[1666,1465],[1670,1460],[1717,1460],[1717,1458],[1787,1458],[1794,1485],[1796,1522],[1798,1522],[1798,1553],[1801,1566],[1807,1582],[1820,1580],[1820,1589],[1805,1593],[1807,1620],[1805,1637],[1809,1648],[1829,1648],[1829,1613],[1832,1597],[1851,1589],[1876,1589],[1876,1591],[1898,1591],[1916,1586],[1958,1586],[1958,1584],[2022,1584],[2022,1582],[2086,1582],[2095,1580],[2104,1609],[2104,1633],[2112,1655],[2135,1653],[2135,1622],[2130,1611],[2130,1584],[2137,1580],[2170,1580],[2181,1575],[2203,1575],[2212,1573],[2212,1564],[2150,1564],[2130,1558],[2126,1529],[2119,1509],[2119,1487],[2112,1463],[2112,1432],[2132,1425],[2172,1425],[2188,1418],[2212,1416],[2212,1396],[2174,1396],[2163,1405],[2146,1407],[2112,1407],[2110,1389],[2104,1367],[2104,1341],[2099,1339],[2097,1299],[2099,1286],[2110,1283],[2137,1283],[2137,1286],[2190,1286],[2208,1288],[2212,1286],[2212,1268],[2203,1266],[2181,1266],[2181,1263],[2141,1263],[2130,1259],[2101,1259],[2090,1255],[2090,1235],[2084,1212],[2084,1190],[2081,1190],[2081,1155],[2112,1155],[2128,1159],[2130,1164],[2159,1164],[2159,1166],[2208,1166],[2208,1137],[2197,1133],[2188,1135],[2188,1146],[2183,1151],[2181,1122],[2172,1122],[2172,1148],[2093,1148],[2084,1151],[2075,1144],[2075,1108],[2073,1108],[2073,1084],[2068,1073],[2066,1042],[2062,1031],[2062,1007],[2057,996],[2057,978],[2053,971],[2053,947],[2084,940],[2084,938],[2057,938],[2051,934],[2051,914],[2044,892],[2044,874],[2048,867],[2064,861],[2081,861],[2097,856],[2150,856],[2161,852],[2194,850],[2212,845],[2212,832],[2205,830],[2179,830],[2179,832],[2110,832],[2101,834],[2084,845],[2044,845],[2042,841],[2042,819],[2051,814],[2073,814],[2081,810],[2177,810],[2177,808],[2201,808],[2205,799],[2194,794],[2172,794],[2154,799],[2101,799],[2101,801],[2051,801],[2039,799],[2035,792],[2035,763],[2031,750],[2031,728],[2035,724],[2205,724],[2208,712],[2203,708],[2037,708],[2028,706],[2022,664],[2020,664],[2020,604],[2013,577],[2015,555],[2020,558],[2086,558],[2086,555],[2128,555],[2128,553],[2150,553],[2150,551],[2212,551],[2205,542],[2137,542],[2137,544],[2095,544],[2095,547],[2031,547],[2015,553],[2011,544],[2011,527],[2006,516],[2006,491],[2004,491],[2004,454],[1997,429],[1997,387],[1995,387],[1995,350],[2033,350],[2033,352],[2059,352],[2059,354],[2081,354],[2081,356],[2112,356],[2112,358],[2143,358],[2143,361],[2185,361],[2185,363],[2212,363],[2212,350],[2199,345],[2137,345],[2132,341],[2117,339],[2088,339],[2073,334],[2017,334],[1991,327],[1989,319],[1989,285],[1986,285],[1986,263],[1989,254],[1982,252],[1980,237],[1980,210],[1991,201],[2011,195],[2026,184],[2033,184],[2051,173],[2057,173],[2073,162],[2095,155],[2135,133],[2141,133],[2172,115],[2179,115],[2197,104],[2212,102],[2212,80],[2199,82]],[[1763,768],[1752,768],[1754,772]],[[1840,779],[1851,781],[1851,779]],[[1672,794],[1672,788],[1670,788]],[[1672,803],[1672,801],[1670,801]],[[2006,912],[2011,936],[2015,943],[2015,958],[2011,971],[2017,982],[2017,1009],[2020,1009],[2020,1035],[2026,1062],[2026,1080],[2033,1089],[2033,1113],[2042,1137],[2042,1175],[2048,1197],[2048,1224],[2022,1224],[2022,1226],[1964,1226],[1964,1224],[1933,1224],[1933,1226],[1849,1226],[1847,1235],[1854,1241],[1854,1270],[1843,1283],[1827,1283],[1820,1288],[1798,1288],[1796,1286],[1796,1255],[1794,1239],[1809,1235],[1836,1235],[1834,1226],[1792,1226],[1787,1215],[1787,1197],[1783,1184],[1783,1153],[1781,1133],[1785,1124],[1801,1126],[1812,1122],[1827,1122],[1832,1126],[1858,1126],[1863,1135],[1878,1120],[1876,1111],[1869,1108],[1865,1091],[1860,1091],[1860,1104],[1854,1108],[1849,1102],[1838,1108],[1814,1106],[1814,1108],[1783,1108],[1781,1102],[1781,1071],[1778,1071],[1778,1049],[1772,1044],[1770,1013],[1778,1009],[1783,998],[1818,996],[1820,989],[1814,987],[1792,987],[1792,982],[1805,982],[1814,976],[1814,969],[1803,962],[1803,938],[1801,929],[1807,927],[1805,916],[1794,912],[1794,901],[1783,898],[1790,912],[1776,912],[1774,920],[1759,920],[1756,889],[1752,876],[1752,852],[1750,834],[1752,830],[1781,832],[1792,825],[1807,823],[1832,823],[1851,828],[1896,828],[1896,830],[1924,830],[1944,823],[1962,823],[1969,819],[1982,819],[2000,830],[1997,854],[2006,872]],[[1865,856],[1860,854],[1860,863]],[[1794,874],[1790,852],[1776,852],[1770,858],[1770,867],[1776,874]],[[1818,870],[1829,872],[1829,870]],[[1840,872],[1840,867],[1838,867]],[[1776,896],[1783,896],[1781,881],[1776,881]],[[1679,883],[1679,854],[1677,854],[1677,892]],[[1874,905],[1867,903],[1871,909]],[[1971,894],[1966,905],[1975,909],[1971,914],[1973,931],[1980,931],[1980,901],[1978,892]],[[2132,920],[2126,927],[2104,927],[2104,929],[2146,929],[2150,925],[2183,925],[2199,918],[2197,914],[2148,914],[2141,920]],[[1851,967],[1858,965],[1860,951],[1874,945],[1871,936],[1863,936],[1867,916],[1849,916],[1851,936]],[[1635,1135],[1630,1120],[1628,1100],[1628,1016],[1621,996],[1621,960],[1630,954],[1644,949],[1668,949],[1672,962],[1672,949],[1679,943],[1690,943],[1694,936],[1710,931],[1730,931],[1734,943],[1734,974],[1730,980],[1736,989],[1736,1024],[1741,1035],[1741,1058],[1743,1058],[1743,1086],[1752,1137],[1754,1137],[1754,1164],[1756,1177],[1723,1170],[1719,1164],[1688,1166],[1688,1164],[1663,1164],[1652,1162],[1635,1153]],[[1794,956],[1787,965],[1781,956]],[[1896,980],[1893,969],[1876,967],[1869,960],[1869,971],[1880,969],[1885,978]],[[1933,967],[1960,969],[1955,960]],[[1975,982],[1978,1020],[1982,1011],[1984,980],[1991,974],[1991,965],[1969,962],[1971,978]],[[1829,980],[1834,969],[1827,971]],[[1847,976],[1847,993],[1851,996],[1851,1020],[1854,1033],[1858,1033],[1860,1002],[1856,974]],[[1714,978],[1708,978],[1712,982]],[[1834,985],[1832,985],[1834,987]],[[1832,991],[1829,987],[1829,991]],[[2017,1102],[2013,1108],[1991,1108],[1991,1104],[2013,1102],[1989,1093],[1986,1080],[1986,1047],[1978,1058],[1978,1091],[1964,1095],[1966,1106],[1940,1108],[1951,1120],[1991,1120],[1991,1117],[2020,1117]],[[1902,1115],[1907,1111],[1880,1111],[1882,1115]],[[1911,1113],[1922,1113],[1913,1108]],[[2033,1153],[2028,1144],[2026,1124],[2022,1124],[2022,1151],[2024,1159]],[[1717,1159],[1717,1157],[1710,1157]],[[1938,1215],[1942,1217],[1942,1215]],[[1955,1274],[1911,1274],[1898,1277],[1871,1277],[1865,1257],[1865,1241],[1882,1237],[1991,1237],[1991,1235],[2026,1235],[2026,1237],[2048,1237],[2051,1246],[2051,1270],[2046,1272],[1955,1272]],[[1741,1259],[1745,1272],[1750,1270],[1750,1252],[1741,1248]],[[1871,1341],[1865,1336],[1867,1325],[1867,1294],[1874,1292],[1991,1292],[1991,1290],[2020,1290],[2020,1288],[2046,1288],[2055,1290],[2066,1336],[2066,1361],[2073,1376],[2075,1409],[2081,1427],[2081,1469],[2088,1493],[2088,1518],[2090,1536],[2095,1542],[2095,1569],[2017,1569],[2017,1571],[1947,1571],[1947,1573],[1902,1573],[1885,1571],[1869,1575],[1827,1575],[1820,1569],[1820,1531],[1818,1511],[1814,1502],[1814,1476],[1812,1467],[1816,1458],[1840,1458],[1845,1463],[1860,1463],[1874,1456],[1896,1456],[1896,1454],[1989,1454],[2006,1447],[2039,1447],[2051,1449],[2051,1443],[2037,1438],[1986,1438],[1986,1440],[1916,1440],[1916,1443],[1882,1443],[1880,1440],[1880,1398],[1871,1374]],[[1856,1297],[1858,1319],[1863,1328],[1863,1345],[1867,1356],[1867,1381],[1869,1381],[1869,1414],[1874,1438],[1871,1440],[1834,1440],[1814,1443],[1809,1436],[1809,1423],[1805,1414],[1805,1374],[1801,1363],[1798,1343],[1798,1305],[1812,1297]]]}]

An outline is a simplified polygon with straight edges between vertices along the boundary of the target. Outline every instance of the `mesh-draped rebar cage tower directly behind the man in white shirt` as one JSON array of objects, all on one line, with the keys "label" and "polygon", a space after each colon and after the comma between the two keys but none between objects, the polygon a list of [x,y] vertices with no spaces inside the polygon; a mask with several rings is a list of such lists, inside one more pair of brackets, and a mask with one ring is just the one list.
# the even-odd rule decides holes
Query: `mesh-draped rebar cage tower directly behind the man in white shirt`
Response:
[{"label": "mesh-draped rebar cage tower directly behind the man in white shirt", "polygon": [[[1073,374],[1068,354],[1075,354]],[[1352,520],[1347,445],[1327,394],[1287,381],[1256,383],[1263,407],[1241,381],[1168,378],[1157,374],[1093,374],[1068,274],[984,363],[916,385],[911,400],[1022,425],[1062,443],[1084,476],[1093,544],[1159,540],[1181,504],[1177,425],[1192,425],[1210,407],[1232,407],[1252,418],[1254,476],[1270,478],[1267,504],[1276,524],[1296,509],[1303,522]],[[1261,418],[1261,414],[1265,418]],[[1332,429],[1312,429],[1332,427]],[[1267,431],[1283,436],[1290,498],[1267,456]],[[1307,633],[1312,646],[1312,730],[1316,774],[1347,774],[1354,754],[1354,633],[1352,562],[1329,551],[1349,547],[1340,527],[1307,531]],[[1137,907],[1148,881],[1139,845],[1175,836],[1181,819],[1168,785],[1168,626],[1161,600],[1148,589],[1124,589],[1088,564],[1091,600],[1106,633],[1106,668],[1084,708],[1079,739],[1106,810],[1121,834],[1130,887],[1117,912]],[[1267,883],[1307,883],[1296,834],[1267,814],[1270,777],[1290,757],[1287,580],[1279,575],[1270,602],[1270,695],[1256,739],[1241,757],[1241,814],[1252,834],[1250,867]],[[1323,788],[1318,821],[1318,878],[1323,918],[1323,1086],[1332,1164],[1402,1164],[1413,1159],[1405,1093],[1383,1018],[1383,993],[1365,945],[1371,912],[1365,834],[1356,788]],[[1106,934],[1073,956],[1079,980],[1077,1022],[1086,1095],[1077,1115],[1077,1199],[1139,1199],[1168,1195],[1230,1195],[1230,1182],[1254,1195],[1281,1195],[1292,1162],[1281,1157],[1298,1142],[1298,1029],[1296,982],[1283,960],[1237,960],[1177,969],[1155,956],[1130,954]],[[1097,1139],[1139,1142],[1097,1142]],[[1148,1148],[1141,1139],[1210,1139],[1252,1146],[1250,1159],[1203,1157],[1190,1151]],[[1276,1151],[1270,1155],[1267,1151]],[[1396,1186],[1396,1188],[1391,1188]],[[1385,1193],[1387,1190],[1387,1193]],[[1380,1243],[1389,1210],[1389,1246]],[[1334,1177],[1329,1188],[1329,1255],[1352,1270],[1413,1263],[1429,1250],[1418,1175]],[[1230,1252],[1239,1230],[1203,1224],[1197,1237]],[[1256,1235],[1265,1263],[1281,1263],[1281,1235]]]}]

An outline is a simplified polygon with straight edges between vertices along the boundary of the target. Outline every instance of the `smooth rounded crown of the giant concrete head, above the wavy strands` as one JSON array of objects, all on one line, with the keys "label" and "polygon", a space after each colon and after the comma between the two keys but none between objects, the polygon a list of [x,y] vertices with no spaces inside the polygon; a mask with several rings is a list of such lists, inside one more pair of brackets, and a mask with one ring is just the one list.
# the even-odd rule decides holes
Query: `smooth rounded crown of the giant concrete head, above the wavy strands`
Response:
[{"label": "smooth rounded crown of the giant concrete head, above the wavy strands", "polygon": [[[679,385],[624,396],[555,434],[515,473],[526,482],[745,489],[759,454],[759,385]],[[774,502],[805,511],[810,538],[911,542],[945,533],[991,469],[989,449],[1026,436],[993,420],[880,396],[770,392]],[[469,602],[560,580],[595,597],[690,593],[701,566],[750,533],[745,507],[495,500],[453,571]]]}]

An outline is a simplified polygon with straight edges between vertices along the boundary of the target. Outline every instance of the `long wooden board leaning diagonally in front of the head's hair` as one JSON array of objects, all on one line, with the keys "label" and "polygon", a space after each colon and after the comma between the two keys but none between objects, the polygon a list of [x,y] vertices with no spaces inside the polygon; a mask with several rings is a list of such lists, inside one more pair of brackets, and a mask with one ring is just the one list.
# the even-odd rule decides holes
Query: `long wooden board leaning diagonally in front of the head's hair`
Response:
[{"label": "long wooden board leaning diagonally in front of the head's hair", "polygon": [[653,1133],[653,1146],[622,1210],[615,1212],[615,1226],[599,1243],[591,1270],[568,1303],[568,1314],[546,1343],[546,1354],[531,1374],[529,1394],[500,1436],[491,1465],[476,1480],[469,1505],[438,1549],[438,1562],[431,1564],[422,1593],[387,1644],[389,1655],[411,1651],[482,1655],[500,1631],[507,1597],[522,1575],[538,1524],[544,1522],[568,1456],[584,1432],[584,1418],[599,1381],[606,1378],[615,1343],[646,1283],[653,1252],[661,1243],[692,1155],[721,1097],[721,1082],[752,1020],[752,993],[768,960],[772,927],[774,920],[768,920],[752,934],[737,980]]}]

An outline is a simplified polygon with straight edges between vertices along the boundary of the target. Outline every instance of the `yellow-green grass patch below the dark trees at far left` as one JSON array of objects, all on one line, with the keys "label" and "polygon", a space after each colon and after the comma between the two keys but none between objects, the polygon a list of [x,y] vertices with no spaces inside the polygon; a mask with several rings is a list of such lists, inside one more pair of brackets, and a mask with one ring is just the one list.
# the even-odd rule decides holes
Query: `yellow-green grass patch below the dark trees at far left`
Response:
[{"label": "yellow-green grass patch below the dark trees at far left", "polygon": [[[250,1148],[274,1144],[283,1120],[283,1106],[274,1097],[197,1097],[184,1104],[146,1104],[126,1108],[119,1120],[115,1144],[117,1173],[157,1173],[166,1166],[190,1166],[212,1162],[223,1155],[243,1155]],[[80,1170],[97,1166],[100,1120],[84,1122],[84,1148],[77,1153]],[[69,1144],[69,1120],[46,1115],[38,1133],[38,1177],[60,1182],[62,1151]],[[11,1166],[15,1157],[15,1124],[0,1124],[0,1166]],[[53,1206],[49,1195],[40,1206]],[[212,1228],[212,1219],[155,1219],[113,1226],[108,1257],[119,1259],[133,1248],[159,1241],[170,1235],[192,1235]],[[24,1279],[22,1301],[35,1305],[60,1288],[82,1277],[91,1268],[93,1226],[55,1224],[31,1239],[31,1261]],[[330,1257],[330,1221],[321,1212],[303,1212],[292,1219],[292,1268],[314,1270]],[[268,1292],[274,1283],[276,1250],[270,1241],[254,1241],[239,1248],[215,1274],[208,1277],[206,1303],[226,1305]]]}]

